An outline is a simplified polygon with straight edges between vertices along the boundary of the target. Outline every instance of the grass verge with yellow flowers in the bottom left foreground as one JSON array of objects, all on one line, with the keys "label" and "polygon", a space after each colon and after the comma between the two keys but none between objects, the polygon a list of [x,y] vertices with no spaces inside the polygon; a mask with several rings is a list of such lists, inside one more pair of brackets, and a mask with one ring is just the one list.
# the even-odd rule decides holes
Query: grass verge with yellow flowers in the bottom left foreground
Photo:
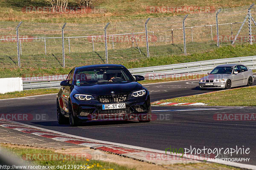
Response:
[{"label": "grass verge with yellow flowers in the bottom left foreground", "polygon": [[[52,150],[48,150],[48,149],[32,149],[32,148],[18,148],[18,147],[9,147],[7,145],[2,145],[5,146],[6,149],[8,149],[11,152],[14,152],[15,154],[17,154],[20,157],[24,157],[24,155],[29,154],[29,155],[36,155],[36,154],[56,154],[56,152],[53,152]],[[62,154],[63,156],[65,154]],[[26,156],[25,156],[26,159]],[[57,170],[57,166],[64,166],[66,165],[66,167],[68,167],[68,165],[89,165],[90,169],[95,169],[95,170],[135,170],[135,169],[131,169],[125,166],[120,166],[117,165],[115,163],[109,163],[109,162],[104,162],[104,161],[100,161],[100,160],[35,160],[33,161],[33,163],[35,165],[41,165],[41,166],[55,166],[54,169]],[[70,166],[71,167],[71,166]],[[72,168],[75,169],[75,168]],[[78,169],[78,168],[76,168]]]}]

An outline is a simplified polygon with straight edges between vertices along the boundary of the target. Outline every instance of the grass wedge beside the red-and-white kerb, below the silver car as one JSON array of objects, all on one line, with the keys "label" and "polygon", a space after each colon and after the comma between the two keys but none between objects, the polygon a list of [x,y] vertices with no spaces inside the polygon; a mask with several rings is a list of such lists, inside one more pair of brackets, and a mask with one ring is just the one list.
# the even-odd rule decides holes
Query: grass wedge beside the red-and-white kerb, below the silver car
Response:
[{"label": "grass wedge beside the red-and-white kerb, below the silver car", "polygon": [[194,103],[202,102],[209,106],[256,106],[256,86],[237,88],[208,94],[178,97],[161,102]]}]

